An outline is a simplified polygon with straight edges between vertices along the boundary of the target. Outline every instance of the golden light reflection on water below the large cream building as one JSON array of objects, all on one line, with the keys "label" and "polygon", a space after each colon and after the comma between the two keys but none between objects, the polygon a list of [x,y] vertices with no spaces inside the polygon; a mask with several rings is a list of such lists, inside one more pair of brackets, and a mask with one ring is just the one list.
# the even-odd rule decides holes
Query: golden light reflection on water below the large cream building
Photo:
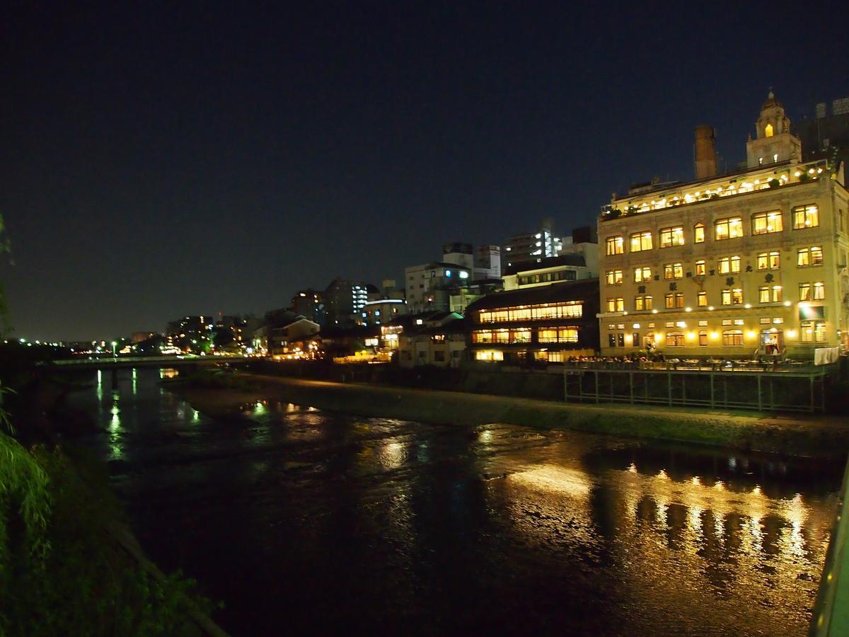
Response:
[{"label": "golden light reflection on water below the large cream building", "polygon": [[812,506],[801,493],[770,497],[751,482],[676,479],[634,463],[599,478],[579,466],[516,467],[504,480],[512,488],[490,490],[509,498],[514,533],[526,543],[576,543],[591,552],[600,543],[619,564],[617,591],[631,603],[703,606],[708,633],[711,623],[728,626],[717,612],[739,614],[741,633],[775,617],[783,622],[776,634],[804,632],[833,496]]}]

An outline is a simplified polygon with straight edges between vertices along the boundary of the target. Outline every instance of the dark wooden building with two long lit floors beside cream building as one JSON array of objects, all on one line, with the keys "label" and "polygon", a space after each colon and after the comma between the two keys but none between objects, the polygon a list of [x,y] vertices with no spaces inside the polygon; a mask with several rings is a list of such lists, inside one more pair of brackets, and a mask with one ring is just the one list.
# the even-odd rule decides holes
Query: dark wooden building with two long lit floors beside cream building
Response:
[{"label": "dark wooden building with two long lit floors beside cream building", "polygon": [[599,347],[599,281],[584,279],[496,292],[466,310],[474,360],[561,363]]}]

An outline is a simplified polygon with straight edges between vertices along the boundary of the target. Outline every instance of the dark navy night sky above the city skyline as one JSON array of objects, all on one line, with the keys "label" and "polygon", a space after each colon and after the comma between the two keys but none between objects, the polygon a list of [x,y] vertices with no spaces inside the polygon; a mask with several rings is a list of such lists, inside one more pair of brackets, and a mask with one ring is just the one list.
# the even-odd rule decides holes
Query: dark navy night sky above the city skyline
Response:
[{"label": "dark navy night sky above the city skyline", "polygon": [[844,3],[534,4],[5,3],[16,335],[401,284],[446,241],[569,234],[692,178],[698,124],[735,165],[770,86],[794,120],[849,95]]}]

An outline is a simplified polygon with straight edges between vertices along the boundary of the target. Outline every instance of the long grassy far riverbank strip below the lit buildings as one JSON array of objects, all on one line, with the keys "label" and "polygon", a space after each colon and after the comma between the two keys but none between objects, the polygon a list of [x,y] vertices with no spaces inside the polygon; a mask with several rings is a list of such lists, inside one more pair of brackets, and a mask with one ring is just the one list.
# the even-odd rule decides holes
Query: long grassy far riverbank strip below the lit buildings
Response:
[{"label": "long grassy far riverbank strip below the lit buildings", "polygon": [[275,400],[368,417],[473,426],[500,422],[784,455],[842,458],[849,448],[849,421],[822,415],[566,404],[245,373],[199,376],[168,387],[194,409],[216,417],[232,417],[245,403]]}]

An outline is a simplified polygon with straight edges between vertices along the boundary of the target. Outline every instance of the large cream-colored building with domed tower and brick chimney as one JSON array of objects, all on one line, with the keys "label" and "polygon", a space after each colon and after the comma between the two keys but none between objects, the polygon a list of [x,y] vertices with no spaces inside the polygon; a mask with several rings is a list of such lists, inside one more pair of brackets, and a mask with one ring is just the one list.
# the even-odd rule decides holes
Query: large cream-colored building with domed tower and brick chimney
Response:
[{"label": "large cream-colored building with domed tower and brick chimney", "polygon": [[801,161],[770,93],[747,169],[718,177],[710,127],[690,183],[647,184],[599,217],[601,350],[812,358],[849,336],[845,168]]}]

